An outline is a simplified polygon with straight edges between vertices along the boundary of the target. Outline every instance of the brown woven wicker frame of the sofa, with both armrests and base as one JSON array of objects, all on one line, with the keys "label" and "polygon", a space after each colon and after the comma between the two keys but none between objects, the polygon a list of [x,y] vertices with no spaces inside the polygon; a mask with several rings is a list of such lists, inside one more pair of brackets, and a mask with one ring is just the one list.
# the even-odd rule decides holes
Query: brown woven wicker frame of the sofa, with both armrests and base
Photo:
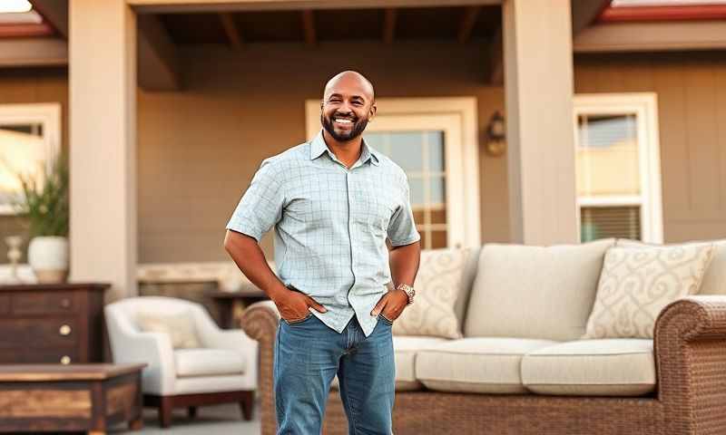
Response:
[{"label": "brown woven wicker frame of the sofa, with both armrests and base", "polygon": [[[241,327],[260,342],[262,434],[276,432],[272,358],[280,316],[270,301],[250,305]],[[663,309],[655,327],[658,391],[638,398],[397,391],[397,435],[726,434],[726,296],[692,296]],[[323,433],[347,434],[329,395]]]}]

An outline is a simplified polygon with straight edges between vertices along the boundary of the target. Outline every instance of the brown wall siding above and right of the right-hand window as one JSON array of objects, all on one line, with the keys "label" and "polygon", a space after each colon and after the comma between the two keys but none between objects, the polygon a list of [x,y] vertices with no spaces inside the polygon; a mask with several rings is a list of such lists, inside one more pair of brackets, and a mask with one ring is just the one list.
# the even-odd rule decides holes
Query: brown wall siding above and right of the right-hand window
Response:
[{"label": "brown wall siding above and right of the right-hand window", "polygon": [[656,92],[666,241],[726,237],[726,61],[719,53],[581,55],[576,92]]}]

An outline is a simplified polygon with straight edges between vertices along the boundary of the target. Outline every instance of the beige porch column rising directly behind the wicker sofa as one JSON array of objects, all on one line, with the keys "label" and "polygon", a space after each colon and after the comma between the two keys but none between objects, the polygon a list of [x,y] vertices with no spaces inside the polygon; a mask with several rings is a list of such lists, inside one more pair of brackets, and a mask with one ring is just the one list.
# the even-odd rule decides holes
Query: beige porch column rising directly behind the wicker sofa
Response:
[{"label": "beige porch column rising directly behind the wicker sofa", "polygon": [[502,11],[510,238],[574,243],[570,0],[505,0]]}]

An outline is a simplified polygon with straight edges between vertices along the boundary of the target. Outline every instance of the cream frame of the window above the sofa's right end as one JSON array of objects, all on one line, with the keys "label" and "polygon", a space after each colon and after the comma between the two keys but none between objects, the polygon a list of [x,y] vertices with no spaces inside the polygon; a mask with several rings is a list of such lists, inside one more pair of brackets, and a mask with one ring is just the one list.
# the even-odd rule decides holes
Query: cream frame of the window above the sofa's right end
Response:
[{"label": "cream frame of the window above the sofa's right end", "polygon": [[[637,122],[638,160],[640,164],[641,227],[643,241],[649,243],[663,242],[662,224],[662,187],[661,187],[661,145],[658,125],[658,98],[654,92],[632,93],[591,93],[574,96],[574,134],[575,150],[577,147],[577,118],[579,115],[617,115],[633,114]],[[610,197],[609,204],[623,205],[622,196]],[[633,198],[628,200],[632,200]],[[593,198],[585,198],[593,200]],[[598,199],[599,205],[606,204],[606,199]],[[578,200],[578,202],[581,202]],[[577,226],[580,232],[580,208],[577,208]]]}]

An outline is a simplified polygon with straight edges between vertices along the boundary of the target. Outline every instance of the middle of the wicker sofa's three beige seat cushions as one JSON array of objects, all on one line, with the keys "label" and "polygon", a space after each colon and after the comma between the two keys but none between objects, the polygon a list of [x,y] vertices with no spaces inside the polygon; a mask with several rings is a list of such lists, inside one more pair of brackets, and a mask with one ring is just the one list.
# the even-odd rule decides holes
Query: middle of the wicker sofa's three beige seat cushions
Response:
[{"label": "middle of the wicker sofa's three beige seat cushions", "polygon": [[416,378],[437,391],[523,393],[522,357],[556,342],[522,338],[463,338],[416,355]]}]

